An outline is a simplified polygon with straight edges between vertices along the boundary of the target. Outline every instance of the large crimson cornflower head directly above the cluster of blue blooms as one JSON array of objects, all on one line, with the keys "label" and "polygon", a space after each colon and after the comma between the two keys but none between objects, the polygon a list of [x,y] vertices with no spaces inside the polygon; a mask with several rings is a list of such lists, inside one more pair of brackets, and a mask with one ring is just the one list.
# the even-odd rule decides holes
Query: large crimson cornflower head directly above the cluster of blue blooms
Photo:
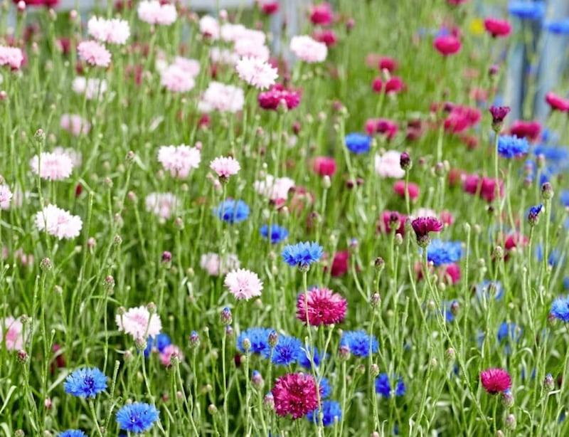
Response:
[{"label": "large crimson cornflower head directly above the cluster of blue blooms", "polygon": [[332,325],[344,320],[348,302],[328,288],[312,288],[297,298],[297,319],[304,325],[307,325],[307,307],[311,326]]}]

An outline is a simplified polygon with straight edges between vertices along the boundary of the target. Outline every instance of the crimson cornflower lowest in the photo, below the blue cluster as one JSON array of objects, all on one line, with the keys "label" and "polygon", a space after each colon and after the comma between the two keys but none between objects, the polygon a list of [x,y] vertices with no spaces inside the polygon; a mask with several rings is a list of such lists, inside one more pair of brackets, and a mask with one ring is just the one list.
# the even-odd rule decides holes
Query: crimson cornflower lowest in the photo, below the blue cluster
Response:
[{"label": "crimson cornflower lowest in the photo, below the blue cluster", "polygon": [[285,374],[275,380],[271,393],[278,416],[296,419],[318,408],[316,382],[309,374]]}]

